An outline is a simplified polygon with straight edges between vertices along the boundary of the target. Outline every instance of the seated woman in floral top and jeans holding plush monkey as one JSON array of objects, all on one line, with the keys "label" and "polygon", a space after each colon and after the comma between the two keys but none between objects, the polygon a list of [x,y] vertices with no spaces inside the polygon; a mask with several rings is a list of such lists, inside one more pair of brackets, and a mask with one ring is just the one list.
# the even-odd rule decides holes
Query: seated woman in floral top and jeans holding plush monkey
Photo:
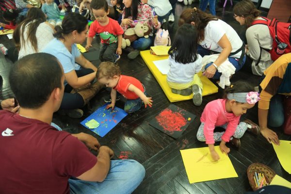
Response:
[{"label": "seated woman in floral top and jeans holding plush monkey", "polygon": [[[160,29],[161,23],[158,22],[158,16],[152,16],[151,8],[148,4],[144,4],[141,0],[123,0],[124,9],[122,13],[121,27],[123,31],[126,31],[128,28],[134,28],[137,22],[133,20],[142,20],[139,21],[142,24],[146,24],[150,29]],[[153,33],[149,34],[148,38],[141,37],[131,43],[131,46],[134,50],[129,52],[129,59],[136,58],[140,50],[148,49],[153,42]]]}]

